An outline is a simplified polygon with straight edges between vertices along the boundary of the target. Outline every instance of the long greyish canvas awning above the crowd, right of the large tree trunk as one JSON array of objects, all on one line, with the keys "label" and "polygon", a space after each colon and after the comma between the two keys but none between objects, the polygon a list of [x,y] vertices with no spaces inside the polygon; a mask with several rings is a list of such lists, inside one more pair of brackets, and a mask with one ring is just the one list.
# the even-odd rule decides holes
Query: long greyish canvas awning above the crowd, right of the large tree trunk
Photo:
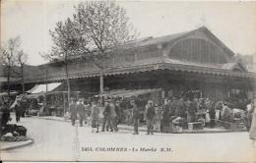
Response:
[{"label": "long greyish canvas awning above the crowd, right of the large tree trunk", "polygon": [[142,94],[149,94],[153,92],[160,91],[161,88],[152,88],[152,89],[136,89],[136,90],[113,90],[107,93],[104,93],[100,96],[104,97],[132,97],[132,96],[139,96]]}]

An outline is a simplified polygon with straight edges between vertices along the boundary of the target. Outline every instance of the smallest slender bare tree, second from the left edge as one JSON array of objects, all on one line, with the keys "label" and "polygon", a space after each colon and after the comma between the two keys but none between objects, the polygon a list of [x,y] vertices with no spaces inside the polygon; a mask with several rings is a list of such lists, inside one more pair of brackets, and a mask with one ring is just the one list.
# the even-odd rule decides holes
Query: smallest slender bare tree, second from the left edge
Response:
[{"label": "smallest slender bare tree, second from the left edge", "polygon": [[25,94],[25,83],[24,83],[24,68],[28,61],[28,54],[23,50],[19,51],[16,55],[16,62],[20,67],[20,77],[22,78],[23,94]]}]

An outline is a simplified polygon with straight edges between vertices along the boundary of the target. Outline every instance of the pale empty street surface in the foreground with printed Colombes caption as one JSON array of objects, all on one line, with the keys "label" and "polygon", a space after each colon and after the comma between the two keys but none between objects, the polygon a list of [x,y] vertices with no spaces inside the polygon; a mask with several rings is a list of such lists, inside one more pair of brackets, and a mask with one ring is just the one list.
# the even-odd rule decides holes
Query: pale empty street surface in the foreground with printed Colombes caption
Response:
[{"label": "pale empty street surface in the foreground with printed Colombes caption", "polygon": [[22,118],[19,125],[28,129],[28,136],[34,139],[34,143],[10,151],[1,151],[3,161],[256,160],[256,147],[249,139],[248,133],[155,134],[154,136],[140,133],[134,136],[131,131],[119,131],[95,134],[88,126],[73,127],[67,122],[36,117]]}]

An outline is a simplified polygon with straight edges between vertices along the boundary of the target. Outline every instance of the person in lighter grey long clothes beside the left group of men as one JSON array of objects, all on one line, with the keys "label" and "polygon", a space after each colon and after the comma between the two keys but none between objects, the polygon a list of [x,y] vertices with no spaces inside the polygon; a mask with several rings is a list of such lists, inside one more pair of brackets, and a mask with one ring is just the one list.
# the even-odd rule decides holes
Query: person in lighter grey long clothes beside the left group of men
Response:
[{"label": "person in lighter grey long clothes beside the left group of men", "polygon": [[91,112],[91,119],[92,119],[92,133],[98,133],[98,126],[99,126],[99,103],[93,101],[92,105],[92,112]]}]

